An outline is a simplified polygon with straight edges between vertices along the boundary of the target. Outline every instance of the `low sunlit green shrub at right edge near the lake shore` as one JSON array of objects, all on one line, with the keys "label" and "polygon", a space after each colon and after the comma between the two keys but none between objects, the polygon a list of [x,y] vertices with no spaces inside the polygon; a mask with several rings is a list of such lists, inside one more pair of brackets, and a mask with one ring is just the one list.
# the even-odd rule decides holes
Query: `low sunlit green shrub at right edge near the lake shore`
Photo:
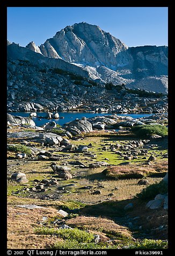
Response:
[{"label": "low sunlit green shrub at right edge near the lake shore", "polygon": [[132,132],[138,137],[148,137],[154,134],[165,137],[168,134],[168,129],[164,125],[137,125],[132,127]]}]

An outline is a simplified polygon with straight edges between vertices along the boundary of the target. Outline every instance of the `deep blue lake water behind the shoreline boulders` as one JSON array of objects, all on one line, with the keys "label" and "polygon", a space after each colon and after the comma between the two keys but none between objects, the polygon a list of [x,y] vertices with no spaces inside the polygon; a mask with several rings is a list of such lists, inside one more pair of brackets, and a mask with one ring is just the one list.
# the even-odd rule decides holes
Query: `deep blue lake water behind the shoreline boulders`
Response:
[{"label": "deep blue lake water behind the shoreline boulders", "polygon": [[[29,117],[30,112],[9,112],[12,116],[22,116],[22,117]],[[38,116],[46,116],[46,112],[37,112]],[[87,112],[59,112],[60,117],[64,117],[63,119],[46,119],[42,118],[41,120],[38,120],[38,117],[32,117],[33,121],[37,126],[41,126],[47,122],[55,121],[56,124],[63,125],[65,123],[71,122],[72,120],[75,120],[76,118],[81,119],[82,117],[90,118],[90,117],[96,117],[96,116],[110,116],[111,113],[87,113]],[[134,114],[117,114],[118,116],[130,116],[133,118],[140,118],[140,117],[148,117],[151,116],[151,114],[146,113],[134,113]]]}]

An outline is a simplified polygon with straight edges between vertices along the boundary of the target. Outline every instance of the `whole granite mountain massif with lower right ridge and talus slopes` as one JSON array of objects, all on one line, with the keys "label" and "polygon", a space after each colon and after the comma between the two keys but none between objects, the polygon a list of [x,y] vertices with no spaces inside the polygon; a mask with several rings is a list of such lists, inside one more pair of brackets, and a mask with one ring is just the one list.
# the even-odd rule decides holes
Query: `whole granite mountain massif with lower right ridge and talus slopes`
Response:
[{"label": "whole granite mountain massif with lower right ridge and talus slopes", "polygon": [[167,46],[128,47],[99,26],[82,22],[39,47],[34,42],[26,47],[81,67],[93,80],[167,93]]}]

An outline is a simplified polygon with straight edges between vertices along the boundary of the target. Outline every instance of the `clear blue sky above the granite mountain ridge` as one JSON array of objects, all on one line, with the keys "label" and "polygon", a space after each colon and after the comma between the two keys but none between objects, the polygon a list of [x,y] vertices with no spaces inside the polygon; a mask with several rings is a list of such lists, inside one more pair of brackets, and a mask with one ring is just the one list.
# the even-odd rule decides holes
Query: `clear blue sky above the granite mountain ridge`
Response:
[{"label": "clear blue sky above the granite mountain ridge", "polygon": [[67,25],[86,22],[127,46],[167,45],[167,7],[9,7],[8,40],[43,44]]}]

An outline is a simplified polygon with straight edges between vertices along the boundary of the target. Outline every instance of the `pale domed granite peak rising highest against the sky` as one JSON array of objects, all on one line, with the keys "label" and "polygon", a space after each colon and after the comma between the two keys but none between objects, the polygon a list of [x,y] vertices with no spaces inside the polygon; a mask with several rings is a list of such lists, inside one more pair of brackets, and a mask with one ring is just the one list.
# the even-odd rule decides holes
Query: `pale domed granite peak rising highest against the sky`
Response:
[{"label": "pale domed granite peak rising highest against the sky", "polygon": [[123,60],[128,61],[125,51],[127,48],[123,42],[101,30],[99,26],[79,23],[67,26],[53,38],[47,39],[40,46],[40,51],[45,56],[72,63],[114,68],[121,61],[116,59],[121,51]]}]

